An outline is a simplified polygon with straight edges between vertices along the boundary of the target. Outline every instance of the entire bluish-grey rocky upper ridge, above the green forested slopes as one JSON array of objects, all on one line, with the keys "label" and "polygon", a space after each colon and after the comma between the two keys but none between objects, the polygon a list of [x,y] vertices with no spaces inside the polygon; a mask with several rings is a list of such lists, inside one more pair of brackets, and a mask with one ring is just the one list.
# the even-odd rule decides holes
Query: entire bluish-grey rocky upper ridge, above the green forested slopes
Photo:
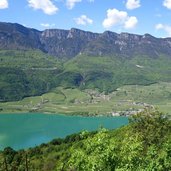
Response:
[{"label": "entire bluish-grey rocky upper ridge, above the green forested slopes", "polygon": [[149,34],[102,34],[72,28],[38,31],[19,24],[0,22],[0,49],[39,49],[58,58],[73,58],[79,54],[95,56],[171,56],[171,38],[156,38]]}]

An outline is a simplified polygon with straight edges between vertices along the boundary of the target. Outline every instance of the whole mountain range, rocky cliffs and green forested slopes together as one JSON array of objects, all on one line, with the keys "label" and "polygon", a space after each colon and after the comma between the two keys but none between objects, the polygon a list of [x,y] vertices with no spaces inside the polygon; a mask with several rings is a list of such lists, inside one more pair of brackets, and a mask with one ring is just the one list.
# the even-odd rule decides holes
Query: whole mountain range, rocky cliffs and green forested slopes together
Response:
[{"label": "whole mountain range, rocky cliffs and green forested slopes together", "polygon": [[75,28],[38,31],[1,22],[0,40],[1,101],[59,86],[108,93],[123,85],[171,81],[171,38]]}]

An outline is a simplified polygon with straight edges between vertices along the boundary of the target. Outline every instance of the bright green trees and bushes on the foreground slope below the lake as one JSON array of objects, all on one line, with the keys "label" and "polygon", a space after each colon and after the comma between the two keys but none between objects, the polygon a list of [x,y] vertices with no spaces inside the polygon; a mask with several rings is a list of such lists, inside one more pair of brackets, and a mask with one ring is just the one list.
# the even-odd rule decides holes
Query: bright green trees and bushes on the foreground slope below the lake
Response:
[{"label": "bright green trees and bushes on the foreground slope below the lake", "polygon": [[166,171],[170,161],[169,115],[149,109],[116,130],[82,131],[27,150],[0,152],[1,171]]}]

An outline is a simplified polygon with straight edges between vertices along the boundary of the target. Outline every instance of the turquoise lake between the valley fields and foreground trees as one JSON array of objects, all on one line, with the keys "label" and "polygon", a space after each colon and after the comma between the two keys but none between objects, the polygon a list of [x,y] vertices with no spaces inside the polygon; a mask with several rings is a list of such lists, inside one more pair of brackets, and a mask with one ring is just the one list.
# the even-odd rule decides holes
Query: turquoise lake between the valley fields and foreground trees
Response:
[{"label": "turquoise lake between the valley fields and foreground trees", "polygon": [[100,127],[114,129],[128,124],[126,117],[80,117],[54,114],[0,114],[0,149],[34,147],[54,138]]}]

